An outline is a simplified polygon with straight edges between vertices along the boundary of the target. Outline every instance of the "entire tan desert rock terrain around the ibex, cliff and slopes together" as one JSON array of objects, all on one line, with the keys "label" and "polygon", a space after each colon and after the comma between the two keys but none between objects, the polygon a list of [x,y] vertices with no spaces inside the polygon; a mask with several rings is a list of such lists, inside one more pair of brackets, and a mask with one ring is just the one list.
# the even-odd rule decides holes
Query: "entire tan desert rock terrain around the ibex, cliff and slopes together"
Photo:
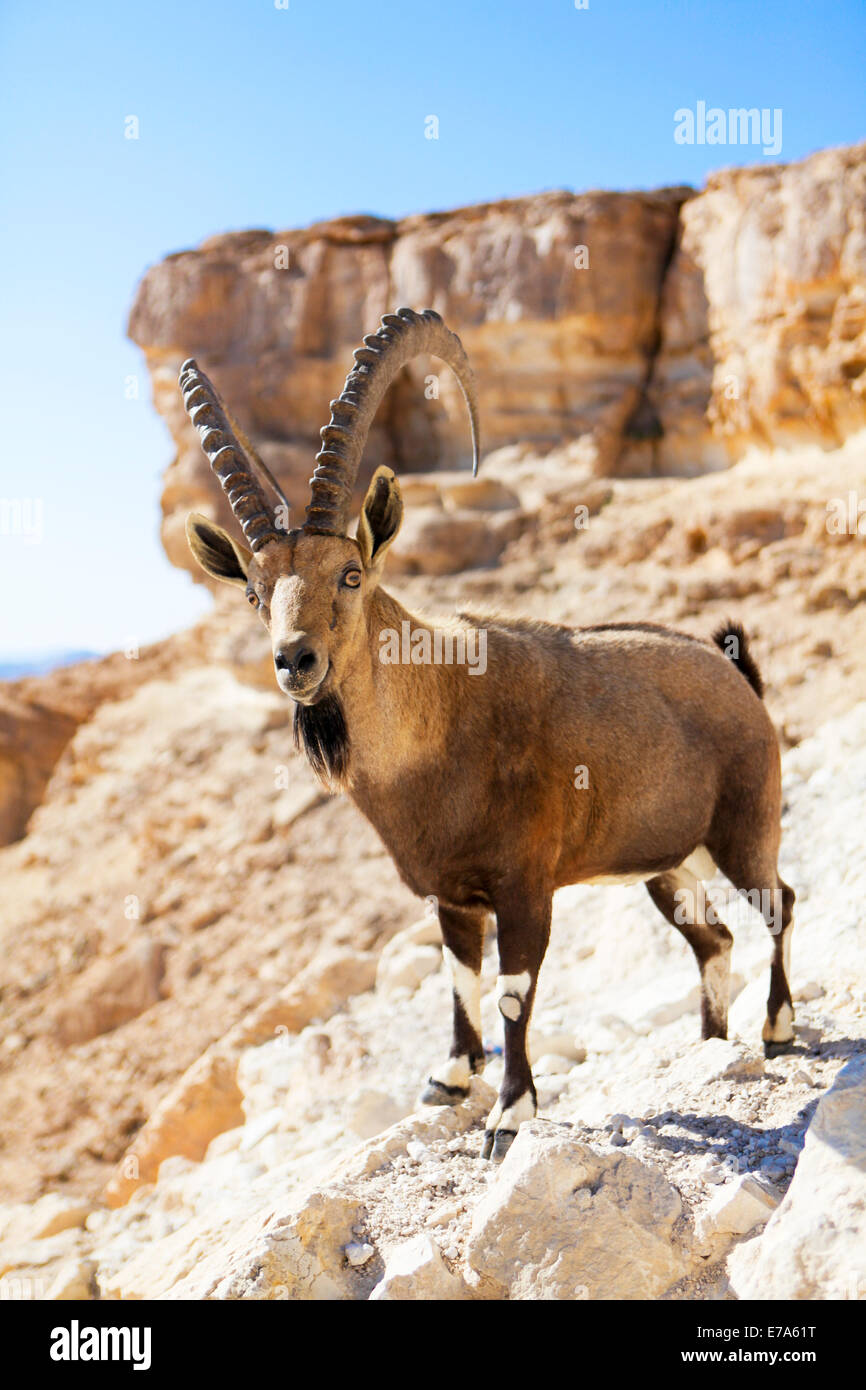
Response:
[{"label": "entire tan desert rock terrain around the ibex, cliff and slopes together", "polygon": [[468,477],[435,363],[384,404],[368,463],[400,468],[407,607],[744,623],[784,752],[795,1051],[760,1049],[748,908],[730,1040],[699,1042],[694,960],[646,892],[563,890],[539,1116],[481,1163],[495,937],[484,1076],[418,1108],[448,1048],[438,922],[295,752],[224,588],[189,632],[0,688],[0,1297],[866,1297],[865,167],[236,234],[149,271],[132,331],[178,446],[175,563],[189,507],[231,524],[182,357],[300,506],[350,349],[431,303],[489,452]]}]

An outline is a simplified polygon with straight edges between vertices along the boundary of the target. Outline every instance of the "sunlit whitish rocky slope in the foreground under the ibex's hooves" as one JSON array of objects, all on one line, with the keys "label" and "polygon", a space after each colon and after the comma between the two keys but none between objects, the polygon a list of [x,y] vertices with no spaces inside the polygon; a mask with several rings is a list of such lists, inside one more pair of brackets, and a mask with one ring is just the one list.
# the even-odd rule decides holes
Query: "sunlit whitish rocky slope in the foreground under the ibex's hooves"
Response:
[{"label": "sunlit whitish rocky slope in the foreground under the ibex's hooves", "polygon": [[[785,792],[783,873],[799,902],[790,1055],[765,1062],[756,1045],[769,938],[751,908],[728,913],[731,1041],[698,1042],[692,959],[646,894],[566,890],[531,1040],[541,1116],[500,1168],[482,1163],[502,1066],[489,988],[491,1062],[470,1101],[416,1105],[448,1038],[438,926],[423,917],[391,940],[375,981],[367,958],[343,951],[339,969],[332,956],[307,972],[293,1005],[284,992],[282,1012],[235,1030],[234,1049],[222,1045],[234,1106],[213,1065],[195,1068],[138,1141],[147,1173],[132,1154],[121,1165],[108,1198],[124,1205],[49,1195],[4,1208],[6,1290],[865,1297],[866,703],[787,756]],[[488,987],[495,973],[491,937]],[[204,1112],[217,1133],[181,1154],[172,1134]]]}]

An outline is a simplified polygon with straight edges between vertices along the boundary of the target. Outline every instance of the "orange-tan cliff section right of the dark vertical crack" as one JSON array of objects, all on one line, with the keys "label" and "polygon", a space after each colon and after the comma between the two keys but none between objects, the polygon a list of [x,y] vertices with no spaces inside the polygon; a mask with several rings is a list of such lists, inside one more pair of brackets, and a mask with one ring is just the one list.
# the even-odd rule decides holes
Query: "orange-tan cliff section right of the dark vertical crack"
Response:
[{"label": "orange-tan cliff section right of the dark vertical crack", "polygon": [[866,146],[726,170],[683,206],[649,399],[663,466],[866,424]]}]

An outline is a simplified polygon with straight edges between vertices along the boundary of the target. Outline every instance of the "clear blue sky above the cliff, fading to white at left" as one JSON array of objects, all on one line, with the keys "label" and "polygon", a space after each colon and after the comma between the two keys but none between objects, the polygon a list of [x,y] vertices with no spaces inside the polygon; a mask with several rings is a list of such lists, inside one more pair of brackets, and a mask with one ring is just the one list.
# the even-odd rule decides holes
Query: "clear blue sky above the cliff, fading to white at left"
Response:
[{"label": "clear blue sky above the cliff, fading to white at left", "polygon": [[171,442],[125,341],[149,264],[234,228],[763,160],[677,145],[701,100],[781,108],[785,161],[853,143],[865,50],[862,0],[4,0],[0,500],[42,517],[0,534],[0,657],[146,642],[209,605],[158,542]]}]

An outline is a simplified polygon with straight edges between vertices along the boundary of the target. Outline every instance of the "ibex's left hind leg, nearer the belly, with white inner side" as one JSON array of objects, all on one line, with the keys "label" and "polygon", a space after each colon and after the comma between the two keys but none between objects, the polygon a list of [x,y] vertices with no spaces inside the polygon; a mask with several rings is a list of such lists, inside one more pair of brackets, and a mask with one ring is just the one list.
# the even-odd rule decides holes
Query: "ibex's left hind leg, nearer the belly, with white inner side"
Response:
[{"label": "ibex's left hind leg, nearer the belly, with white inner side", "polygon": [[706,899],[703,881],[681,865],[651,878],[646,891],[671,926],[681,931],[701,972],[701,1037],[727,1037],[734,938]]}]

